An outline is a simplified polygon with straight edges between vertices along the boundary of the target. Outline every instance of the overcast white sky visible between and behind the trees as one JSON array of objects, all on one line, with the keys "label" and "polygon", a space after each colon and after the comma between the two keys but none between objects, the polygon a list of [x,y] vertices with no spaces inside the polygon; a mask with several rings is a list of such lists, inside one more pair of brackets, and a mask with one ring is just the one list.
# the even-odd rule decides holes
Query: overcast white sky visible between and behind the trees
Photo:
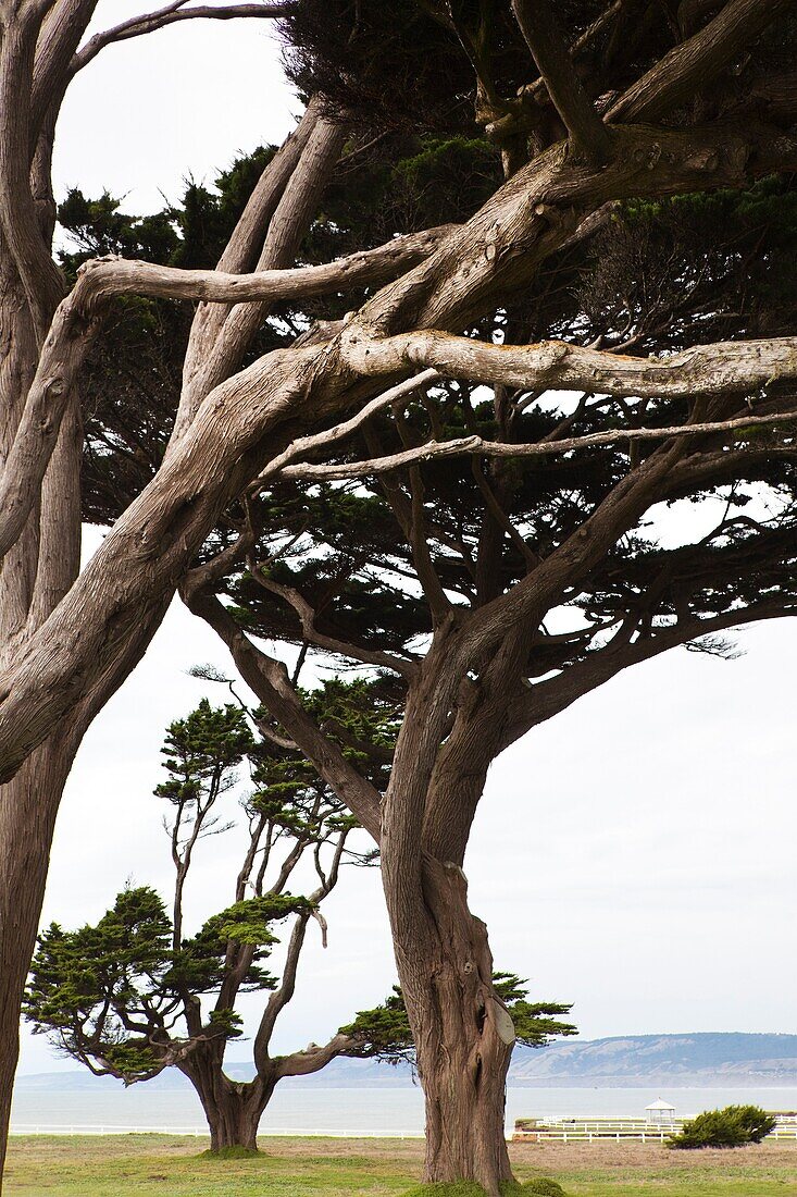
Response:
[{"label": "overcast white sky visible between and behind the trees", "polygon": [[[99,5],[104,28],[140,11]],[[188,23],[103,51],[67,98],[55,158],[79,186],[151,211],[182,180],[209,182],[239,151],[280,140],[299,105],[267,23]],[[96,543],[96,533],[87,546]],[[797,1033],[795,698],[797,628],[740,636],[735,662],[683,650],[638,667],[533,733],[493,766],[467,861],[497,965],[541,997],[574,1001],[585,1038],[671,1031]],[[229,672],[180,607],[97,719],[69,780],[44,922],[95,920],[126,879],[168,895],[163,730]],[[235,837],[205,845],[189,912],[231,900]],[[322,1041],[394,980],[379,879],[348,870],[311,937],[278,1047]],[[254,1017],[256,999],[250,999]],[[62,1067],[23,1033],[22,1073]],[[236,1046],[232,1058],[245,1058]]]}]

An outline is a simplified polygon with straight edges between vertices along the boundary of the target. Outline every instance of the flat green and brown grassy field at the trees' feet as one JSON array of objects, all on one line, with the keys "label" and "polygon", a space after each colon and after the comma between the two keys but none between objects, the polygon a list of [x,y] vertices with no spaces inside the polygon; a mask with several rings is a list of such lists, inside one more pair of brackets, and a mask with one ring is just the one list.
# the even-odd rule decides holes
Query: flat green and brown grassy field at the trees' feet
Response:
[{"label": "flat green and brown grassy field at the trees' feet", "polygon": [[[418,1184],[418,1140],[266,1138],[260,1156],[215,1160],[177,1135],[11,1140],[8,1197],[369,1197]],[[797,1146],[668,1152],[641,1143],[515,1143],[518,1179],[573,1197],[797,1197]]]}]

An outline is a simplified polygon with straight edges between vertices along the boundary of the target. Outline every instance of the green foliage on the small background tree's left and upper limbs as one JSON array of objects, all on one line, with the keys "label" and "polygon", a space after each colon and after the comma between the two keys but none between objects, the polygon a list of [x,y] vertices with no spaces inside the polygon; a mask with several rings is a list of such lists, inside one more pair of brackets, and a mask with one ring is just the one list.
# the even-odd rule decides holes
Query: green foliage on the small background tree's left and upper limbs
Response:
[{"label": "green foliage on the small background tree's left and upper limbs", "polygon": [[[352,759],[367,767],[367,753],[377,753],[371,767],[376,778],[391,751],[395,712],[369,695],[366,682],[333,681],[305,700],[339,729]],[[225,830],[214,804],[235,785],[244,761],[256,788],[244,802],[251,843],[237,901],[183,936],[152,888],[128,887],[97,924],[67,931],[54,923],[39,940],[25,1016],[37,1033],[49,1034],[92,1071],[127,1083],[156,1075],[174,1058],[177,1020],[197,1034],[202,998],[212,1008],[201,1023],[201,1040],[212,1045],[238,1038],[238,994],[276,986],[263,966],[279,942],[275,928],[291,917],[306,919],[316,909],[310,899],[288,893],[285,879],[276,892],[263,889],[263,876],[253,873],[255,862],[285,839],[286,857],[296,863],[302,849],[321,851],[345,837],[354,820],[298,751],[257,740],[241,706],[214,707],[206,699],[168,728],[163,764],[169,776],[154,791],[172,812],[166,826],[177,868],[177,909],[182,911],[196,843]],[[254,893],[244,898],[248,885]]]}]

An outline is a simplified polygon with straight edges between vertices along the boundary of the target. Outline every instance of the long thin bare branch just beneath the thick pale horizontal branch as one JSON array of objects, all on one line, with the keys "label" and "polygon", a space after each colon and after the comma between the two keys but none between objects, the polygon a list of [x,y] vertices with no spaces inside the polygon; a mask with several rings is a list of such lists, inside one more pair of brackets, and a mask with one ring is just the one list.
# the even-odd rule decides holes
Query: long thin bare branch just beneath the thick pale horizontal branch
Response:
[{"label": "long thin bare branch just beneath the thick pale horizontal branch", "polygon": [[583,437],[561,440],[534,440],[528,444],[511,444],[503,440],[485,440],[482,437],[458,437],[455,440],[427,440],[416,449],[404,449],[387,457],[370,461],[341,462],[333,466],[314,466],[299,462],[282,470],[284,478],[300,478],[308,481],[334,481],[347,478],[367,478],[402,469],[432,457],[458,457],[477,454],[480,457],[549,457],[553,454],[572,452],[574,449],[591,449],[596,445],[616,444],[619,440],[665,440],[669,437],[689,437],[710,432],[732,432],[737,429],[773,427],[779,424],[797,423],[797,412],[778,412],[773,415],[742,415],[734,420],[708,420],[702,424],[676,424],[664,429],[609,429]]}]

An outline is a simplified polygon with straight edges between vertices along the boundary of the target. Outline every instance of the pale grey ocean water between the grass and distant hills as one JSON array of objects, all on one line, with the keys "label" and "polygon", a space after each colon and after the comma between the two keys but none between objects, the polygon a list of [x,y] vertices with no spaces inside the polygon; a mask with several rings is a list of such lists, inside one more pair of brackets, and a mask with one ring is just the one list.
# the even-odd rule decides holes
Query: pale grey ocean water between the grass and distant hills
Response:
[{"label": "pale grey ocean water between the grass and distant hills", "polygon": [[[54,1086],[56,1083],[54,1078]],[[506,1125],[516,1118],[546,1116],[641,1117],[645,1106],[663,1098],[676,1117],[732,1104],[761,1105],[767,1110],[797,1110],[797,1086],[787,1088],[539,1088],[513,1086],[507,1090]],[[123,1130],[205,1134],[202,1111],[189,1089],[148,1090],[98,1088],[17,1092],[11,1113],[12,1132],[105,1132]],[[395,1135],[412,1137],[424,1130],[424,1101],[416,1086],[324,1089],[302,1081],[284,1081],[261,1123],[261,1135]]]}]

